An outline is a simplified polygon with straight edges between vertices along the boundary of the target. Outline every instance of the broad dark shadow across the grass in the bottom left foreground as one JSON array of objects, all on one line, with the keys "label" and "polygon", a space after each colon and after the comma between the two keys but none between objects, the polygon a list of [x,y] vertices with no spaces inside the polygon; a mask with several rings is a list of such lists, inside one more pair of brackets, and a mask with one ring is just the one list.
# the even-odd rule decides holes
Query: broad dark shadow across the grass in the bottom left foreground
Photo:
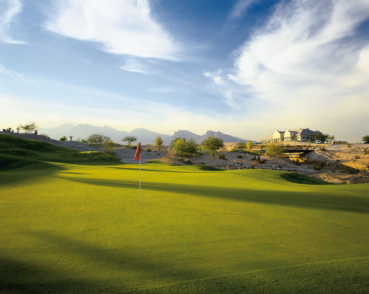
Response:
[{"label": "broad dark shadow across the grass in the bottom left foreground", "polygon": [[203,268],[170,264],[165,254],[152,258],[51,231],[23,233],[46,244],[52,260],[42,254],[30,256],[32,261],[0,256],[0,293],[122,293],[163,278],[179,282],[208,275]]}]

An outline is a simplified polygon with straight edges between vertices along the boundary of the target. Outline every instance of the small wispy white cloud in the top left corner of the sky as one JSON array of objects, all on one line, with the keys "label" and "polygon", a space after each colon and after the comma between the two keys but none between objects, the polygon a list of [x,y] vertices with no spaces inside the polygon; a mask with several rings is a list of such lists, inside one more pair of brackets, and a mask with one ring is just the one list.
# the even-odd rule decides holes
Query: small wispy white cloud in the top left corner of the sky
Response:
[{"label": "small wispy white cloud in the top left corner of the sky", "polygon": [[26,44],[11,38],[9,30],[14,17],[22,11],[20,0],[4,0],[0,3],[0,40],[4,43]]}]

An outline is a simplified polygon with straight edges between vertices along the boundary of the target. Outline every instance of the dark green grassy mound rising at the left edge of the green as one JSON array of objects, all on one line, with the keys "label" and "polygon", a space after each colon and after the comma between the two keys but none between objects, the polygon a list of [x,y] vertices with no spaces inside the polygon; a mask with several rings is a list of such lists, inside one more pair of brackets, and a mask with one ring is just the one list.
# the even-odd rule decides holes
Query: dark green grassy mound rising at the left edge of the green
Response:
[{"label": "dark green grassy mound rising at the left edge of the green", "polygon": [[39,167],[52,166],[45,162],[117,162],[119,159],[102,152],[78,152],[46,142],[0,134],[0,170],[20,168],[38,162]]}]

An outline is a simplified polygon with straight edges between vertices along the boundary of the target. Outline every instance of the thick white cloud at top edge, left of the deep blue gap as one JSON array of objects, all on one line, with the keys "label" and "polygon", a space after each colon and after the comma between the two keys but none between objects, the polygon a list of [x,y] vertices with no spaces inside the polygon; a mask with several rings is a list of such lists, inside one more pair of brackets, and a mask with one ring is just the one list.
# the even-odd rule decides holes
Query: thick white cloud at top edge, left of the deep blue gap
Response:
[{"label": "thick white cloud at top edge, left of the deep blue gap", "polygon": [[47,28],[97,41],[108,53],[174,59],[169,34],[150,16],[148,0],[62,0]]}]

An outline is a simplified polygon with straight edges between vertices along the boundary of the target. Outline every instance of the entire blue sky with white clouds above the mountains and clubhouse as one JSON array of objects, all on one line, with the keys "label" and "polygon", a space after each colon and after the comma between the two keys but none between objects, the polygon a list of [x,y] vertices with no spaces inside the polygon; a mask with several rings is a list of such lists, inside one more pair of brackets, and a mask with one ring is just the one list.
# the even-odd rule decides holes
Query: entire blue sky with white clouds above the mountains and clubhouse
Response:
[{"label": "entire blue sky with white clouds above the mountains and clubhouse", "polygon": [[369,133],[369,0],[0,0],[0,122]]}]

